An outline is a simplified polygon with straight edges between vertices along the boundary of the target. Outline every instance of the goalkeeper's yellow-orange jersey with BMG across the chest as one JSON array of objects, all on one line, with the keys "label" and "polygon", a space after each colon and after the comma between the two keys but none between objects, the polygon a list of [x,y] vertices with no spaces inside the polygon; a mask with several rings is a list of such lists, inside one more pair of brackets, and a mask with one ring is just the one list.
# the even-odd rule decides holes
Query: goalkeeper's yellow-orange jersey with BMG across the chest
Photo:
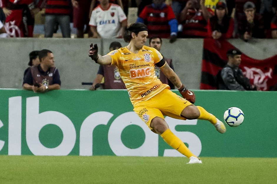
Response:
[{"label": "goalkeeper's yellow-orange jersey with BMG across the chest", "polygon": [[150,99],[165,88],[170,89],[155,75],[155,64],[163,59],[155,48],[144,45],[135,54],[123,47],[108,55],[112,57],[112,65],[117,66],[133,105]]}]

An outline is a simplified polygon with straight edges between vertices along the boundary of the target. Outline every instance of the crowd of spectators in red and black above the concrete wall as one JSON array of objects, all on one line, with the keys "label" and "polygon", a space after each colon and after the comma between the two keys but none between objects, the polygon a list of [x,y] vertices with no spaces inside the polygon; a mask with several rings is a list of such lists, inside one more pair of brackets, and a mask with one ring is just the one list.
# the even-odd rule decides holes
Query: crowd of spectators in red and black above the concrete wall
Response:
[{"label": "crowd of spectators in red and black above the concrete wall", "polygon": [[[277,38],[273,0],[0,0],[6,37],[33,37],[36,15],[44,16],[44,37],[60,27],[62,37],[122,38],[130,7],[149,36],[170,38]],[[40,18],[42,17],[40,16]],[[4,37],[4,36],[2,36]]]}]

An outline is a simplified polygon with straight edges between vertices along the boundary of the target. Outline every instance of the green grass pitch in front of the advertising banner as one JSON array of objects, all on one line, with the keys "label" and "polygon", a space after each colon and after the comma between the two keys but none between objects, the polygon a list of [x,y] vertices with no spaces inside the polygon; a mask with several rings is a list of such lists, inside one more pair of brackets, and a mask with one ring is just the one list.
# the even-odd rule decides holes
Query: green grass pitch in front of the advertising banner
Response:
[{"label": "green grass pitch in front of the advertising banner", "polygon": [[0,183],[277,183],[277,158],[0,156]]}]

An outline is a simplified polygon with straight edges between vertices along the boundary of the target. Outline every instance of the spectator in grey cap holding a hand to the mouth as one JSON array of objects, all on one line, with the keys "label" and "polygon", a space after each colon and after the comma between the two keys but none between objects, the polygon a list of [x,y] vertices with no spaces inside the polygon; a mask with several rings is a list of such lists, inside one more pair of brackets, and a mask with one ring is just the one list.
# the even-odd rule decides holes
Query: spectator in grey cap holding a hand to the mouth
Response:
[{"label": "spectator in grey cap holding a hand to the mouth", "polygon": [[256,13],[255,4],[248,1],[244,4],[245,16],[238,22],[238,33],[241,39],[265,38],[263,17]]}]

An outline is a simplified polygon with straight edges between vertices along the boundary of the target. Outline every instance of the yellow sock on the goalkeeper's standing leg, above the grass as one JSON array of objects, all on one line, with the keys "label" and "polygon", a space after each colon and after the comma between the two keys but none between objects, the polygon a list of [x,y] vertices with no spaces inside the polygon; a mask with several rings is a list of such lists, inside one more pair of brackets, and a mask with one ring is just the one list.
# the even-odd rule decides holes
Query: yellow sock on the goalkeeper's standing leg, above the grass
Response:
[{"label": "yellow sock on the goalkeeper's standing leg, above the grass", "polygon": [[162,133],[161,137],[169,146],[176,149],[186,157],[190,158],[191,156],[195,156],[193,153],[191,153],[183,141],[175,136],[170,129],[167,129],[164,133]]}]

